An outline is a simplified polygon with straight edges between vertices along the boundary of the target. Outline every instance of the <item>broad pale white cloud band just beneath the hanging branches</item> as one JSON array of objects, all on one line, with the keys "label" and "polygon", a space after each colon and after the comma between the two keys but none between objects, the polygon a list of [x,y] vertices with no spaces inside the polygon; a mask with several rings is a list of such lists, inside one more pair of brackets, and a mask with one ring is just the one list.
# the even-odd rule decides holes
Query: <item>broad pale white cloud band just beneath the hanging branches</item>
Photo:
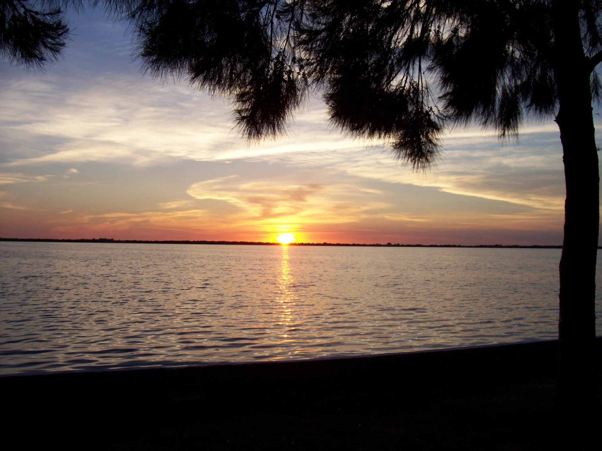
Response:
[{"label": "broad pale white cloud band just beneath the hanging branches", "polygon": [[501,146],[495,135],[478,127],[452,130],[442,141],[444,155],[425,176],[396,163],[378,143],[330,130],[324,105],[315,100],[287,137],[247,146],[232,129],[228,105],[185,84],[160,85],[138,75],[78,81],[69,88],[61,88],[63,82],[51,76],[5,82],[2,131],[15,142],[29,137],[27,145],[34,148],[27,158],[8,153],[5,167],[246,159],[330,167],[366,179],[435,186],[539,208],[563,206],[560,144],[553,123],[527,124],[518,146]]}]

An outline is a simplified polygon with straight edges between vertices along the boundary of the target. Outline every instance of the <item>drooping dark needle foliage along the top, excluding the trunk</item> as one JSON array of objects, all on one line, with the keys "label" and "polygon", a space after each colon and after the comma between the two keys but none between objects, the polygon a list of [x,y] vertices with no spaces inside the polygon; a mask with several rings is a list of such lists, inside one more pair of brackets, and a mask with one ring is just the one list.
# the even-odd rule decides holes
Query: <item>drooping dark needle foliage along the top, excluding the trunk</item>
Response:
[{"label": "drooping dark needle foliage along the top, excluding the trunk", "polygon": [[[592,96],[602,93],[602,0],[576,0]],[[132,25],[152,75],[184,78],[234,105],[251,141],[285,132],[312,91],[332,124],[391,144],[414,168],[446,125],[501,138],[554,115],[552,0],[106,0]],[[69,2],[63,2],[69,4]],[[90,2],[96,5],[96,2]],[[39,66],[67,37],[60,3],[0,0],[1,51]],[[35,8],[34,8],[35,7]]]}]

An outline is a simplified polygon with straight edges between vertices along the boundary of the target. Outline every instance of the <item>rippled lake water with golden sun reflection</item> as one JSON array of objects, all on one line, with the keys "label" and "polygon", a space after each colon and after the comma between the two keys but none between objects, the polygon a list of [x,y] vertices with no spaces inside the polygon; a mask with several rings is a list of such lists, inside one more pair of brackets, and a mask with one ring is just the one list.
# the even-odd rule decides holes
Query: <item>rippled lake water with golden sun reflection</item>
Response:
[{"label": "rippled lake water with golden sun reflection", "polygon": [[[559,259],[556,249],[0,242],[0,374],[554,339]],[[598,295],[598,335],[600,306]]]}]

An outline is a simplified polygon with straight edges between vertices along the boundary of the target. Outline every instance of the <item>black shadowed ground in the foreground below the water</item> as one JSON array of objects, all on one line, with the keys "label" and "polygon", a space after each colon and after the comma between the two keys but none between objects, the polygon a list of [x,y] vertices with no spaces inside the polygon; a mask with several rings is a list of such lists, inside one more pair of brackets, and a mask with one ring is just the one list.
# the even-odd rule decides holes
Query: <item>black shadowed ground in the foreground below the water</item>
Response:
[{"label": "black shadowed ground in the foreground below the water", "polygon": [[[598,339],[597,360],[602,356]],[[556,342],[0,378],[5,449],[583,449],[560,444]],[[598,392],[592,426],[600,449]],[[3,446],[4,447],[4,446]]]}]

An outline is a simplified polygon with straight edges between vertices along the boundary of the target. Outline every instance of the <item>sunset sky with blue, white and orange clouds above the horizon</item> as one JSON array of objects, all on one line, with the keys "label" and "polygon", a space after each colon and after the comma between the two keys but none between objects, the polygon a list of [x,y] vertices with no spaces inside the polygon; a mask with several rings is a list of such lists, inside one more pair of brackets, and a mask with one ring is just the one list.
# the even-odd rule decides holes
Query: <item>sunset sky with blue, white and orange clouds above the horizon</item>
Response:
[{"label": "sunset sky with blue, white and orange clouds above the horizon", "polygon": [[415,174],[331,129],[316,96],[287,137],[249,146],[225,100],[142,75],[126,26],[70,22],[45,73],[0,63],[1,237],[562,244],[551,119],[506,146],[452,130]]}]

